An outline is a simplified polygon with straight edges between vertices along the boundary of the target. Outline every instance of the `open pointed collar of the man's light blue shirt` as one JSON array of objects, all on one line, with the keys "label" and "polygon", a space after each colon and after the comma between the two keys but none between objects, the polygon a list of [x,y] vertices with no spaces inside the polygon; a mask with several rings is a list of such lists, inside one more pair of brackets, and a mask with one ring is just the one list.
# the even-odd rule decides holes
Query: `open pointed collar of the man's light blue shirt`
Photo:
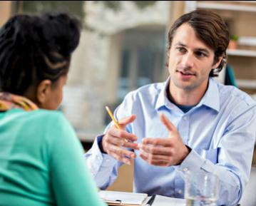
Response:
[{"label": "open pointed collar of the man's light blue shirt", "polygon": [[[163,106],[168,108],[174,108],[175,105],[170,103],[167,97],[167,88],[170,83],[170,77],[165,81],[163,88],[161,89],[158,99],[155,103],[155,109],[158,110]],[[212,79],[209,78],[208,89],[205,92],[205,95],[201,99],[200,103],[198,103],[197,107],[200,105],[208,106],[209,108],[213,108],[217,112],[220,110],[220,94],[217,88],[217,83]]]}]

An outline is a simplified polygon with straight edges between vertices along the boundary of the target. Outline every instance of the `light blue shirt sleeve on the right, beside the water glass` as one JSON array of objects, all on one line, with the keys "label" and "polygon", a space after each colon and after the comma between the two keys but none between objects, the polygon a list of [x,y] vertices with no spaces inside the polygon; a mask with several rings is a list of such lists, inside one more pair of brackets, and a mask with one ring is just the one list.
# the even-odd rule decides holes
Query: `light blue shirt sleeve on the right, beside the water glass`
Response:
[{"label": "light blue shirt sleeve on the right, beside the water glass", "polygon": [[[200,177],[203,172],[213,172],[220,179],[217,205],[237,205],[249,180],[255,145],[255,107],[240,113],[227,126],[217,148],[204,157],[191,150],[179,170],[187,170]],[[217,163],[211,159],[217,156]]]}]

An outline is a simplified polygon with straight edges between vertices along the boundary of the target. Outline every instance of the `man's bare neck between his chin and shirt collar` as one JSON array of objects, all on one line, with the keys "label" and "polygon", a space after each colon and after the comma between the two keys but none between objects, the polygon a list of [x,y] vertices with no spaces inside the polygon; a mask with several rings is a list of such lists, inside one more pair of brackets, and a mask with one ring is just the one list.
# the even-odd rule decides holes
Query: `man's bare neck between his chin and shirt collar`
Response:
[{"label": "man's bare neck between his chin and shirt collar", "polygon": [[167,93],[169,100],[173,103],[178,105],[197,105],[203,98],[207,88],[208,84],[206,86],[201,86],[200,88],[185,90],[176,87],[170,80]]}]

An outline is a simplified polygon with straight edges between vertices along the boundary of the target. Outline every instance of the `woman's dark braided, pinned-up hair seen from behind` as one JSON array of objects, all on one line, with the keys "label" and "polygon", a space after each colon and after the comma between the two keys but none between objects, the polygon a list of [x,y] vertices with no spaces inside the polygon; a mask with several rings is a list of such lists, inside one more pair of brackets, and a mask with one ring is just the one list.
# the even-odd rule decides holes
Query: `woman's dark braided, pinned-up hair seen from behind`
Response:
[{"label": "woman's dark braided, pinned-up hair seen from behind", "polygon": [[23,95],[68,72],[81,24],[68,14],[16,15],[0,29],[0,90]]}]

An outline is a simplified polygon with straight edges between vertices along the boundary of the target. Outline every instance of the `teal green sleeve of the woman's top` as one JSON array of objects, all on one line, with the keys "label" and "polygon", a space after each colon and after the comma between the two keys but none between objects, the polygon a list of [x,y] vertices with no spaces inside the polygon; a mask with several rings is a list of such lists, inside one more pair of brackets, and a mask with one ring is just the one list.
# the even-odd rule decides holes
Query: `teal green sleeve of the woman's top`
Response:
[{"label": "teal green sleeve of the woman's top", "polygon": [[103,206],[83,159],[83,149],[68,121],[56,120],[49,133],[50,175],[57,205]]}]

